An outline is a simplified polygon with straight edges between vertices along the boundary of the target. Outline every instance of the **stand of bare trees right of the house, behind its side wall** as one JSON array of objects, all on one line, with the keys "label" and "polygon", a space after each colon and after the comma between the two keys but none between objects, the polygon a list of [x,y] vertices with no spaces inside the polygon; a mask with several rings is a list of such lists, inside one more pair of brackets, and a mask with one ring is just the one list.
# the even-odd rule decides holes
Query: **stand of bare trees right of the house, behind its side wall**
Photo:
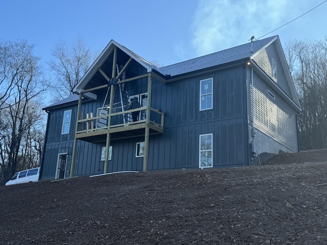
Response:
[{"label": "stand of bare trees right of the house, behind its side wall", "polygon": [[285,53],[302,107],[297,122],[300,150],[326,148],[327,39],[294,40]]}]

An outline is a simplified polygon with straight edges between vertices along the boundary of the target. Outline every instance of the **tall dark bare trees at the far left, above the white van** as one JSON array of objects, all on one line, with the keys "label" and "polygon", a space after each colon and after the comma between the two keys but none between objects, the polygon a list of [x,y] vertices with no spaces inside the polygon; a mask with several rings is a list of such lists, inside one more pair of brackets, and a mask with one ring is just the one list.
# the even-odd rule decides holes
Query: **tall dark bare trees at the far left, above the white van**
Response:
[{"label": "tall dark bare trees at the far left, above the white van", "polygon": [[9,90],[4,88],[10,93],[0,110],[0,185],[10,179],[31,153],[31,133],[42,119],[37,101],[46,89],[39,59],[33,55],[34,46],[25,40],[7,42],[6,46],[8,58],[2,60],[2,66],[7,66],[6,80],[12,82]]}]

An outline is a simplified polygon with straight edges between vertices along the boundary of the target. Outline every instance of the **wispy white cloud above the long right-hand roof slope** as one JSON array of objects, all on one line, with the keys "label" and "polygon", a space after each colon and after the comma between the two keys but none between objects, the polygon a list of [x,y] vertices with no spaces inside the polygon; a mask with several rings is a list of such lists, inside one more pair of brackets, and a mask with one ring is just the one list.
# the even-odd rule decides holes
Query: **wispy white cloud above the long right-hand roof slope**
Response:
[{"label": "wispy white cloud above the long right-hand roof slope", "polygon": [[290,2],[200,0],[191,26],[193,48],[200,56],[259,38],[290,20]]}]

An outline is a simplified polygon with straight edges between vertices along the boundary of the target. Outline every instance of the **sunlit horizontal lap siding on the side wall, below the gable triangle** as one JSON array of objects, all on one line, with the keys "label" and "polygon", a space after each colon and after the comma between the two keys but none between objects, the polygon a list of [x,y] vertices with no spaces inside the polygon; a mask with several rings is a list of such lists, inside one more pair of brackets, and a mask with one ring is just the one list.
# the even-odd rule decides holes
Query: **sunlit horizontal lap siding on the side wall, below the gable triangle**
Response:
[{"label": "sunlit horizontal lap siding on the side wall, below the gable triangle", "polygon": [[[251,69],[247,69],[248,123],[251,124]],[[268,94],[272,92],[275,99]],[[296,111],[253,73],[254,128],[292,152],[298,151]]]}]

